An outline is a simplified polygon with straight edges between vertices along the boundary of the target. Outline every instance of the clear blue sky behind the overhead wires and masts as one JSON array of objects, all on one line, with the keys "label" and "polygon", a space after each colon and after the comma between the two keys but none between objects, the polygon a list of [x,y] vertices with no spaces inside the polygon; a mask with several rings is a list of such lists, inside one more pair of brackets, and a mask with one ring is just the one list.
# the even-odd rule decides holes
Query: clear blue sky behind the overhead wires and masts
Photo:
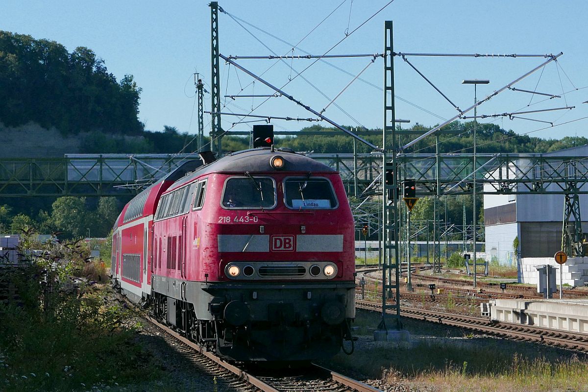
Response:
[{"label": "clear blue sky behind the overhead wires and masts", "polygon": [[[333,1],[219,1],[225,11],[289,42],[297,43],[310,30],[336,9],[343,0]],[[299,47],[313,54],[323,54],[340,39],[346,29],[353,31],[375,14],[387,1],[346,0]],[[87,46],[106,62],[108,70],[118,79],[132,73],[143,88],[140,119],[146,129],[161,130],[163,125],[195,132],[195,98],[192,74],[202,73],[206,83],[210,70],[210,9],[208,1],[22,1],[2,0],[0,29],[26,33],[35,38],[60,42],[72,51]],[[514,112],[576,106],[573,110],[523,115],[528,118],[562,124],[588,116],[588,77],[586,76],[586,41],[588,5],[584,1],[465,1],[465,0],[395,0],[367,24],[349,35],[330,53],[381,53],[385,20],[394,21],[394,47],[399,52],[429,53],[559,53],[559,66],[552,62],[540,71],[517,83],[516,88],[535,90],[562,98],[546,99],[528,93],[505,91],[479,108],[479,114]],[[279,54],[291,53],[292,46],[279,42],[248,25],[260,41]],[[225,55],[269,55],[268,49],[256,41],[230,16],[219,16],[220,52]],[[304,54],[299,50],[294,53]],[[502,88],[523,73],[545,61],[543,58],[409,58],[457,106],[464,109],[473,103],[473,87],[462,85],[462,79],[490,79],[479,86],[478,97]],[[308,66],[310,60],[278,62],[276,60],[242,60],[250,71],[262,73],[276,86],[288,82]],[[333,59],[330,63],[353,76],[368,63],[368,58]],[[376,59],[362,78],[382,86],[382,59]],[[435,125],[457,114],[442,96],[434,91],[401,58],[395,59],[397,118],[412,123]],[[558,73],[559,71],[559,73]],[[228,95],[268,94],[268,88],[252,78],[221,64],[222,92]],[[303,74],[312,85],[296,78],[285,91],[320,111],[353,78],[323,62],[316,62]],[[241,91],[241,89],[243,91]],[[575,89],[579,90],[575,90]],[[584,88],[584,89],[582,89]],[[326,95],[323,96],[322,94]],[[356,81],[342,93],[325,115],[335,122],[368,128],[382,126],[383,93],[374,86]],[[544,102],[539,102],[544,100]],[[538,102],[538,103],[537,103]],[[223,111],[248,113],[262,99],[225,99]],[[530,105],[531,106],[528,106]],[[429,112],[419,109],[420,106]],[[210,96],[206,95],[206,108]],[[272,98],[254,114],[290,117],[312,117],[286,98]],[[205,116],[205,123],[209,116]],[[232,127],[235,117],[223,118],[223,128]],[[487,120],[483,120],[487,121]],[[531,132],[542,138],[588,136],[588,119],[577,120],[551,128],[546,123],[530,120],[493,120],[517,133]],[[308,123],[275,120],[276,129],[298,130]],[[235,130],[248,130],[251,124],[235,125]],[[547,129],[538,130],[547,127]],[[208,128],[205,128],[208,131]],[[533,132],[534,131],[534,132]]]}]

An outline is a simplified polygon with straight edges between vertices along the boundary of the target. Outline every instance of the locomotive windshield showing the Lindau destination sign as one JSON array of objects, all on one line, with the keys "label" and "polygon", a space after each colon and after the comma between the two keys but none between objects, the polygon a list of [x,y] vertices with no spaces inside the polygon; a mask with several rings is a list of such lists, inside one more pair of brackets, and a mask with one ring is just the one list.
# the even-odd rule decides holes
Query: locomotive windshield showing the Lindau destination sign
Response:
[{"label": "locomotive windshield showing the Lindau destination sign", "polygon": [[284,182],[286,206],[294,209],[337,207],[333,187],[326,178],[288,178]]}]

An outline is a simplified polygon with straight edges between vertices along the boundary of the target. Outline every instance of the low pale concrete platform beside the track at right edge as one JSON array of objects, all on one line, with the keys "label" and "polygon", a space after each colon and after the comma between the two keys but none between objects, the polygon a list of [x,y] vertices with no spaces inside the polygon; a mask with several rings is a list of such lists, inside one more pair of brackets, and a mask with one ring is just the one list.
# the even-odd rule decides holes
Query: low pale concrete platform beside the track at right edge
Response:
[{"label": "low pale concrete platform beside the track at right edge", "polygon": [[588,299],[491,300],[490,319],[588,333]]}]

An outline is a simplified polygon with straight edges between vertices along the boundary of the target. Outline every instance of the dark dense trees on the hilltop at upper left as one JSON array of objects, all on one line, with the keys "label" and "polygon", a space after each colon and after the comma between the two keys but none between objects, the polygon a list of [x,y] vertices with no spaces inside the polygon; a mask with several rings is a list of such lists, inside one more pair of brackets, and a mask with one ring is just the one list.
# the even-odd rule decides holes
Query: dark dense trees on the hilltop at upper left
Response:
[{"label": "dark dense trees on the hilltop at upper left", "polygon": [[105,130],[138,135],[139,88],[121,82],[91,49],[69,53],[55,41],[0,31],[0,120],[34,121],[64,134]]}]

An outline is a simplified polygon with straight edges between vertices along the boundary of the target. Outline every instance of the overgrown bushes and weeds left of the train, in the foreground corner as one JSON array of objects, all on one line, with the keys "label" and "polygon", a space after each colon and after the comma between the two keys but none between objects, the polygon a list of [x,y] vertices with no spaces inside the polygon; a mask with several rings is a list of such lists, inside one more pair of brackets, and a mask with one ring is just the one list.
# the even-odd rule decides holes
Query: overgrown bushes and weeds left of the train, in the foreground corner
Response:
[{"label": "overgrown bushes and weeds left of the train, in the foreground corner", "polygon": [[30,249],[41,249],[42,256],[0,268],[21,298],[18,306],[0,304],[2,390],[90,390],[96,383],[114,386],[115,378],[136,383],[152,377],[155,369],[132,344],[138,313],[108,286],[76,278],[89,264],[88,246],[25,238],[20,252]]}]

